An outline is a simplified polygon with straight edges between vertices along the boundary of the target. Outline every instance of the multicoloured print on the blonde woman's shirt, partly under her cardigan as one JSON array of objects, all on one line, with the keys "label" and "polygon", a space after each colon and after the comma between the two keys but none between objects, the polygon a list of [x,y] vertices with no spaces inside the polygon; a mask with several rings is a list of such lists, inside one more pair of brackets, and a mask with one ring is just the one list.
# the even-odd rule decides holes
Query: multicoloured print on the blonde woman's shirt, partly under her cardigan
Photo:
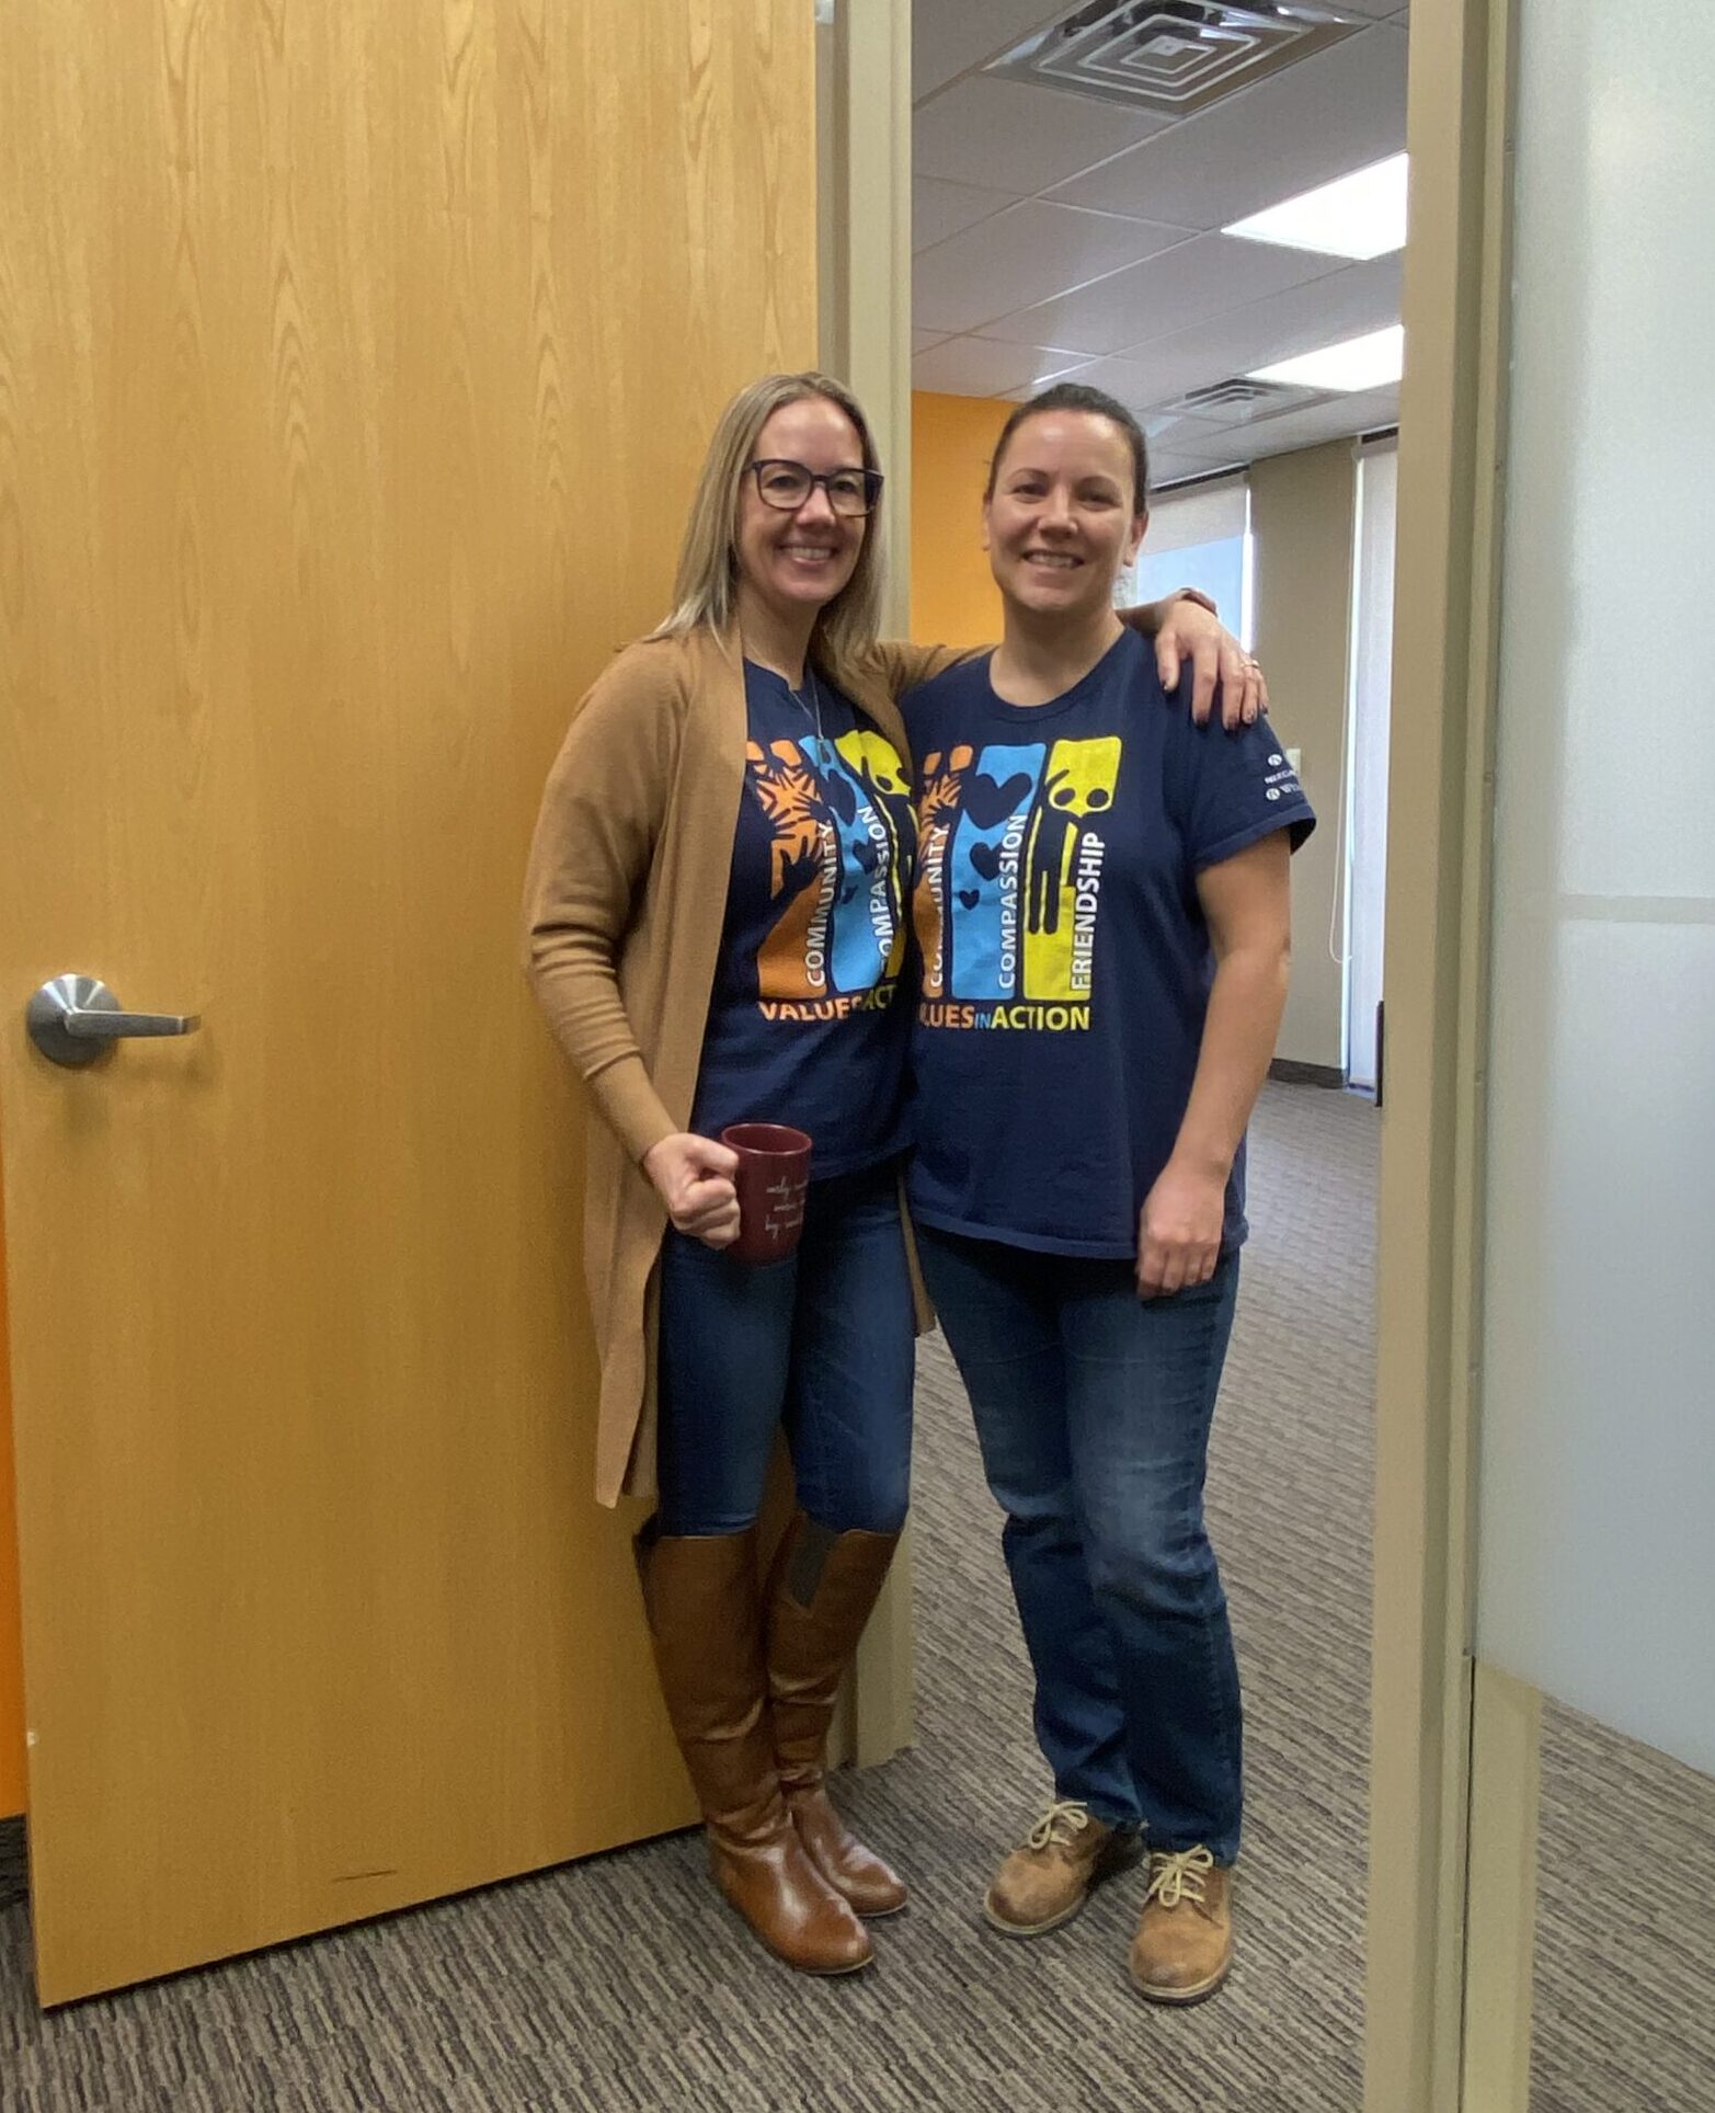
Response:
[{"label": "multicoloured print on the blonde woman's shirt, partly under her cardigan", "polygon": [[834,1021],[891,1004],[906,951],[902,845],[883,794],[906,797],[877,733],[746,744],[746,775],[773,830],[779,913],[756,955],[769,1021]]}]

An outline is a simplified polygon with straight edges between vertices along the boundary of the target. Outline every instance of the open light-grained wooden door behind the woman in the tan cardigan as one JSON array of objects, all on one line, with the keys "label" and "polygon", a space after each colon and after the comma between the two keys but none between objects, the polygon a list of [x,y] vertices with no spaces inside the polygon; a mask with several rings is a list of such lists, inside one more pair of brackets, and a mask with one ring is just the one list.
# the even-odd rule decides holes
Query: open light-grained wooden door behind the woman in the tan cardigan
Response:
[{"label": "open light-grained wooden door behind the woman in the tan cardigan", "polygon": [[[689,1819],[520,974],[579,691],[813,353],[807,0],[13,0],[0,1109],[38,1982]],[[27,1044],[49,976],[182,1040]]]}]

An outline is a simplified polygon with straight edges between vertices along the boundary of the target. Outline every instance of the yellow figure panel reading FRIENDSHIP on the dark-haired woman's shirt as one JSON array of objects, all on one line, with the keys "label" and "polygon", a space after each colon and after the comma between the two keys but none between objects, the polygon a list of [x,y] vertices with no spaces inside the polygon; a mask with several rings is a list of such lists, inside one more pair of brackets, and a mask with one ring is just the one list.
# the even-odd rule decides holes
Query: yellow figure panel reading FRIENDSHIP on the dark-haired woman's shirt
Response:
[{"label": "yellow figure panel reading FRIENDSHIP on the dark-haired woman's shirt", "polygon": [[1056,742],[1024,845],[1024,995],[1090,997],[1105,839],[1119,737]]}]

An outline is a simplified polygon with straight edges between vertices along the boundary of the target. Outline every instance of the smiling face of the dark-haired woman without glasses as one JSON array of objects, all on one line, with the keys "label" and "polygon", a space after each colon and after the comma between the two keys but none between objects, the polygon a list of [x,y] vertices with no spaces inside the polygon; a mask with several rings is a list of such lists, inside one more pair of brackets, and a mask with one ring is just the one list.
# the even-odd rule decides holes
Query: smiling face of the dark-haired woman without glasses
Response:
[{"label": "smiling face of the dark-haired woman without glasses", "polygon": [[1147,524],[1122,429],[1100,412],[1045,410],[1014,429],[995,465],[982,547],[1007,606],[1081,623],[1113,609]]}]

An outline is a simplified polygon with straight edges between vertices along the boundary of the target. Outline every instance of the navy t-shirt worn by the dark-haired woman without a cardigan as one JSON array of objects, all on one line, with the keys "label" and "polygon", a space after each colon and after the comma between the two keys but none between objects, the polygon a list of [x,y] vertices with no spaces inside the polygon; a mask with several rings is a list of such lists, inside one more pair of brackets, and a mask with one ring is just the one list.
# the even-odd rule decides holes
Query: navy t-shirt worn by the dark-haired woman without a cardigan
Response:
[{"label": "navy t-shirt worn by the dark-haired woman without a cardigan", "polygon": [[[912,691],[910,1209],[1056,1255],[1136,1253],[1198,1069],[1214,955],[1198,873],[1316,826],[1269,721],[1198,727],[1124,638],[1052,704],[988,661]],[[1244,1240],[1244,1152],[1223,1251]]]}]

